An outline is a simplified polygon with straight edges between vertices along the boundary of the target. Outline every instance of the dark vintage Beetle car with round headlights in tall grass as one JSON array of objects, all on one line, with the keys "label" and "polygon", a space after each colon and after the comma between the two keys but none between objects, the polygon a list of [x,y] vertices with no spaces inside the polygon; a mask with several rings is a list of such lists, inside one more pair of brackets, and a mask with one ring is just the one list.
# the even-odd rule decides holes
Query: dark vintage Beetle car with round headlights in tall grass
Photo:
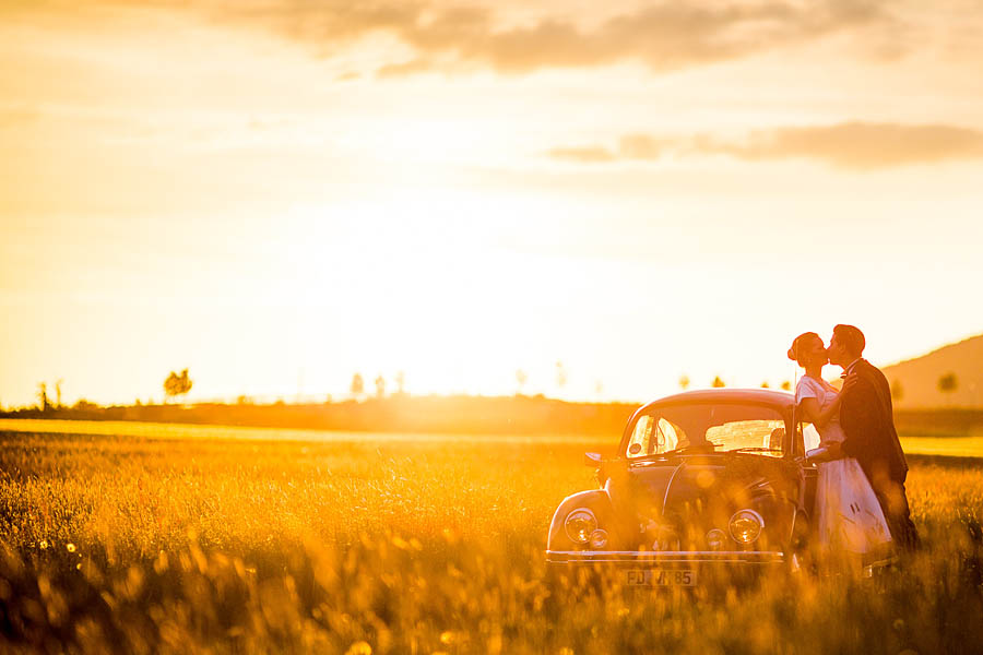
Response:
[{"label": "dark vintage Beetle car with round headlights in tall grass", "polygon": [[613,457],[585,454],[601,488],[556,510],[552,572],[613,568],[628,585],[692,586],[721,568],[795,569],[815,498],[805,453],[817,442],[791,393],[713,389],[643,405]]}]

